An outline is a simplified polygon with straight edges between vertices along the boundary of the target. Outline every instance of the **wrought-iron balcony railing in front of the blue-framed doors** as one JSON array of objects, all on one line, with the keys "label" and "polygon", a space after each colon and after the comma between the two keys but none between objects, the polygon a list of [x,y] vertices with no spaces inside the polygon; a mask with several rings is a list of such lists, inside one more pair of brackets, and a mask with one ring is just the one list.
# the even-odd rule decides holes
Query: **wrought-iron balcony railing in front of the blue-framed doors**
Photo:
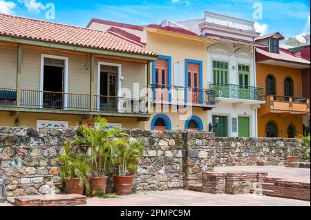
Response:
[{"label": "wrought-iron balcony railing in front of the blue-framed doors", "polygon": [[153,101],[178,105],[214,106],[214,91],[211,89],[190,88],[185,86],[169,86],[151,84]]}]

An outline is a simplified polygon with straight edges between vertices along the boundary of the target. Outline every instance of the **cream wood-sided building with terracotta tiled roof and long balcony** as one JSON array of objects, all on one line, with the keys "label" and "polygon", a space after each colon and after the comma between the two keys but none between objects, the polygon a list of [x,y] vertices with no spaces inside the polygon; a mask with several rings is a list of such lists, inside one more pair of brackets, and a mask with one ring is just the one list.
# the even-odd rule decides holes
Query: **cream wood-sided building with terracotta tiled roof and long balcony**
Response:
[{"label": "cream wood-sided building with terracotta tiled roof and long balcony", "polygon": [[102,115],[144,128],[140,90],[156,57],[109,32],[0,14],[0,126],[66,128]]}]

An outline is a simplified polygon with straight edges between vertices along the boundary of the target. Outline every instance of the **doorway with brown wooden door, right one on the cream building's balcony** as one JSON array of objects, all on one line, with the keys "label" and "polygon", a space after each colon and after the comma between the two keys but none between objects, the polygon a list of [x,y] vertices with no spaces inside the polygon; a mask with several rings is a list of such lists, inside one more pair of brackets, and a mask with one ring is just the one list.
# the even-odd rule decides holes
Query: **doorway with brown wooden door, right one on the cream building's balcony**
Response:
[{"label": "doorway with brown wooden door, right one on the cream building's balcony", "polygon": [[99,72],[99,110],[117,112],[120,100],[117,97],[119,66],[100,64]]}]

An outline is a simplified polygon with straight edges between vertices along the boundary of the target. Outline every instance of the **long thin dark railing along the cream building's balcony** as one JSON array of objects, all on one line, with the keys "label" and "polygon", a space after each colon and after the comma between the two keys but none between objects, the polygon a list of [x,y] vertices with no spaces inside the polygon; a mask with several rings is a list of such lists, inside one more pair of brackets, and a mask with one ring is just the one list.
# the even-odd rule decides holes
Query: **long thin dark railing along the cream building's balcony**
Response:
[{"label": "long thin dark railing along the cream building's balcony", "polygon": [[[17,94],[20,97],[19,101],[17,101]],[[94,107],[91,108],[90,94],[0,88],[0,106],[52,110],[148,113],[147,99],[94,95],[93,100]]]}]

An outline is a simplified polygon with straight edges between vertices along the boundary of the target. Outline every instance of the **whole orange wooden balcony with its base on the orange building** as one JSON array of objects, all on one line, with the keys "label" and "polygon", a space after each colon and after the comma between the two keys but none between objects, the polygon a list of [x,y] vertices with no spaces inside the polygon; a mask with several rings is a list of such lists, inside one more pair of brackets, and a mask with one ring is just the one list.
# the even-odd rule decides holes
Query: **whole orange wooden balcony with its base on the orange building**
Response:
[{"label": "whole orange wooden balcony with its base on the orange building", "polygon": [[260,115],[268,113],[310,114],[310,99],[269,95]]}]

